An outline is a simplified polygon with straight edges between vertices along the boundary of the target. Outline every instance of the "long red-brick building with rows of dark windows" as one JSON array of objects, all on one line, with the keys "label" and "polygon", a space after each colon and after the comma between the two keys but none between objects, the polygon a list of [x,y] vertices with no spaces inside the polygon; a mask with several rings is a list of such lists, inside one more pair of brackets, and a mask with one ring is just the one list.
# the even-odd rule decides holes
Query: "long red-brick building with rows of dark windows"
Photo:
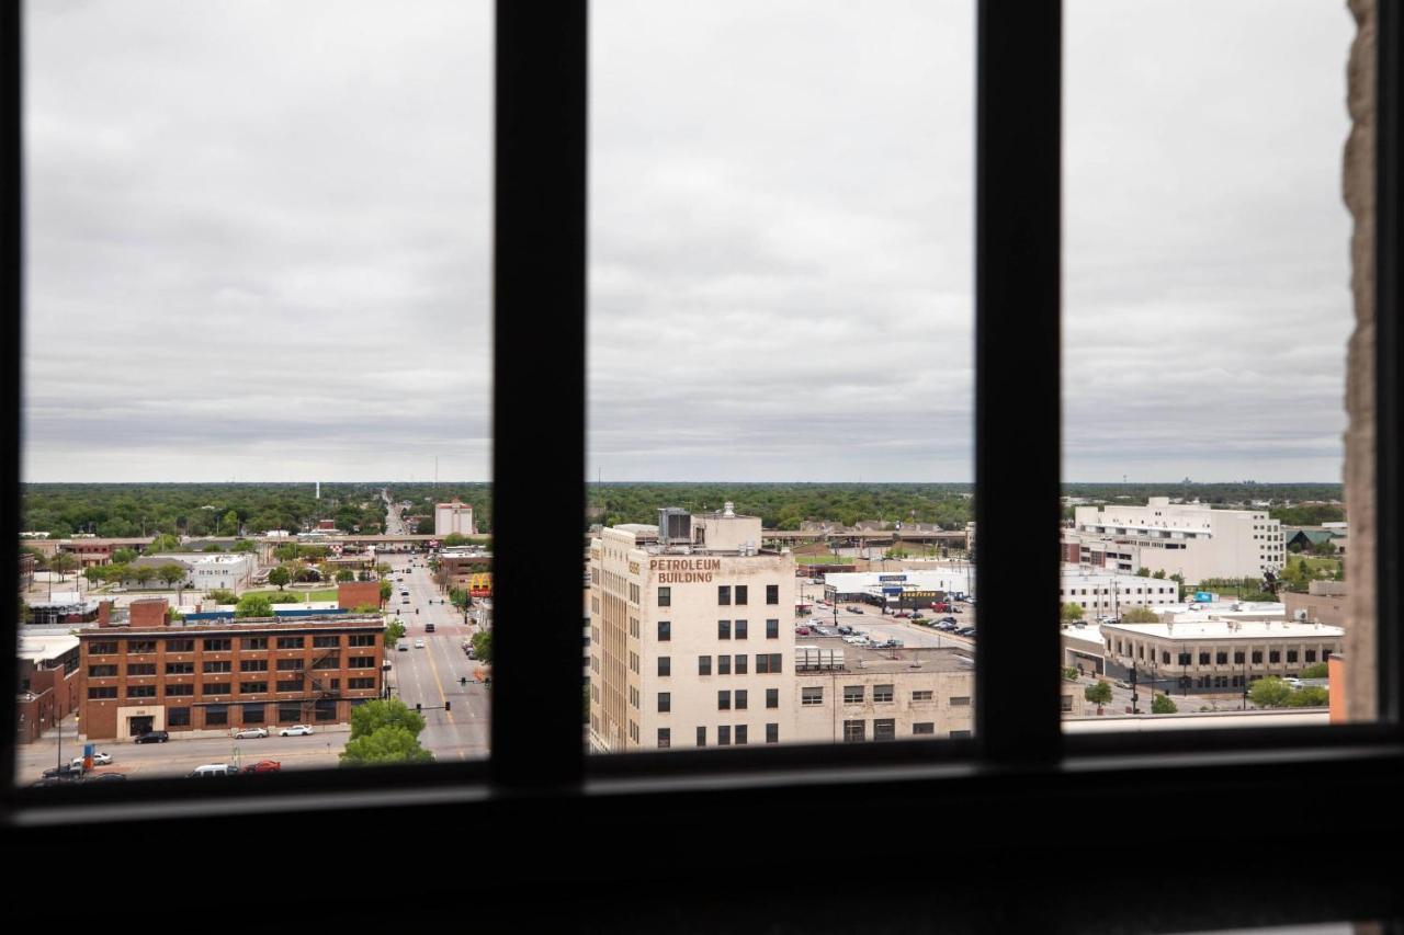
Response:
[{"label": "long red-brick building with rows of dark windows", "polygon": [[79,635],[83,733],[350,723],[382,694],[383,630],[378,614],[166,623],[164,601],[133,602]]}]

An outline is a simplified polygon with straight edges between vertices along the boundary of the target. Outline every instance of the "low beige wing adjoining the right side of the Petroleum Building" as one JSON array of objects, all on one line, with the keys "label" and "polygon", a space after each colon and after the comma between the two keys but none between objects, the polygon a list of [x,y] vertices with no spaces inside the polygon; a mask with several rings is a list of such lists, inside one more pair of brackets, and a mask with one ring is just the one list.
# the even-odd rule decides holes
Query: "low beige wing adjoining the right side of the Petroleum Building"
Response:
[{"label": "low beige wing adjoining the right side of the Petroleum Building", "polygon": [[969,737],[974,658],[966,649],[876,650],[837,637],[795,647],[797,743]]}]

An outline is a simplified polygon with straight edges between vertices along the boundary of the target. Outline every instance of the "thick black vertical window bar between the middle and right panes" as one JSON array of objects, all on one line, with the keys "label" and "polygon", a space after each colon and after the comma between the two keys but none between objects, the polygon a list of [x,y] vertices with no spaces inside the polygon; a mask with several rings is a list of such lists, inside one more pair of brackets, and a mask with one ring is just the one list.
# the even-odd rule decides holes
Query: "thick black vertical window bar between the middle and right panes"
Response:
[{"label": "thick black vertical window bar between the middle and right panes", "polygon": [[1059,755],[1061,3],[981,0],[976,74],[976,737]]}]

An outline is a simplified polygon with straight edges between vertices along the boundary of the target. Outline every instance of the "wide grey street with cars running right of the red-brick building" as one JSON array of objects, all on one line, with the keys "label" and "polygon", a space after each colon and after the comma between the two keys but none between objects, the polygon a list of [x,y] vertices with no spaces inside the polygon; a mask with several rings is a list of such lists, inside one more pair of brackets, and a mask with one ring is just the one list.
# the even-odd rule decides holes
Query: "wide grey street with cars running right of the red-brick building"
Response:
[{"label": "wide grey street with cars running right of the red-brick building", "polygon": [[[424,705],[428,726],[420,736],[425,750],[439,761],[470,760],[487,755],[491,705],[489,691],[476,681],[468,685],[461,678],[473,679],[477,663],[468,658],[462,642],[476,632],[465,625],[463,615],[439,594],[438,585],[425,566],[424,556],[385,555],[395,569],[395,594],[390,609],[404,623],[407,651],[389,650],[392,671],[388,684],[392,695],[407,705]],[[407,590],[409,601],[400,595]],[[417,611],[417,612],[416,612]],[[424,628],[434,623],[434,633]],[[424,649],[414,649],[424,640]],[[442,710],[449,702],[449,710]]]}]

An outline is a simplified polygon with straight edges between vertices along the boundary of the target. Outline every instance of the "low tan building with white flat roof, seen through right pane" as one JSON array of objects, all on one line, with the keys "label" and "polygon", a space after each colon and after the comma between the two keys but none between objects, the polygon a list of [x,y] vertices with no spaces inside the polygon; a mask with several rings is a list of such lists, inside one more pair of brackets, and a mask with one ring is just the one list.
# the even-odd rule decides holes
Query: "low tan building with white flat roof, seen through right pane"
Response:
[{"label": "low tan building with white flat roof, seen through right pane", "polygon": [[1104,623],[1105,672],[1154,682],[1174,694],[1243,689],[1268,675],[1296,677],[1344,647],[1345,630],[1324,623],[1207,616],[1160,623]]}]

